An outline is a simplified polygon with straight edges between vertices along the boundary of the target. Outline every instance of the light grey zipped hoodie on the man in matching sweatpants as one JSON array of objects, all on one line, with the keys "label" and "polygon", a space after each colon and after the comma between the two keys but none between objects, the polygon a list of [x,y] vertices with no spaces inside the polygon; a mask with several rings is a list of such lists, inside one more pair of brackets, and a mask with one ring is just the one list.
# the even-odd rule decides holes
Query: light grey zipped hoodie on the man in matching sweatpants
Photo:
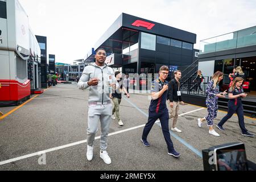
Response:
[{"label": "light grey zipped hoodie on the man in matching sweatpants", "polygon": [[[89,86],[88,81],[92,78],[98,78],[100,81],[97,86]],[[77,83],[79,89],[89,89],[88,102],[106,102],[110,101],[109,94],[112,92],[109,84],[115,83],[116,88],[119,87],[117,79],[115,78],[113,69],[105,65],[102,69],[96,63],[89,64],[84,68],[84,72]]]}]

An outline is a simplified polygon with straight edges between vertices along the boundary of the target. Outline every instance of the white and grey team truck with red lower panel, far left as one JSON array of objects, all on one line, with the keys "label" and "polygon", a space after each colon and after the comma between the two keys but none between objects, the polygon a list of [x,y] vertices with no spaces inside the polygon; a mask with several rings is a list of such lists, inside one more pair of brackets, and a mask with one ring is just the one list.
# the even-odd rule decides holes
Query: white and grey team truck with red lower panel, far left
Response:
[{"label": "white and grey team truck with red lower panel, far left", "polygon": [[19,105],[39,89],[40,47],[18,0],[0,0],[0,105]]}]

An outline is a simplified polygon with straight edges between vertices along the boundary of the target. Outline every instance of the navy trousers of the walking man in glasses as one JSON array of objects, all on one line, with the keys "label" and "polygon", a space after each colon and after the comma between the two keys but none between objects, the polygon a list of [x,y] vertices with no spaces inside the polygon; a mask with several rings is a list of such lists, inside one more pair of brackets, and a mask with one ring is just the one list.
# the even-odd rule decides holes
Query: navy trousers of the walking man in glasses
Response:
[{"label": "navy trousers of the walking man in glasses", "polygon": [[150,133],[150,130],[152,129],[154,123],[158,119],[160,119],[164,139],[166,140],[167,147],[168,147],[168,152],[173,152],[174,151],[174,144],[172,143],[171,135],[170,135],[170,131],[169,131],[168,110],[166,110],[162,113],[155,113],[155,112],[149,111],[148,122],[147,122],[146,126],[144,127],[143,134],[142,134],[142,139],[147,140],[147,136]]}]

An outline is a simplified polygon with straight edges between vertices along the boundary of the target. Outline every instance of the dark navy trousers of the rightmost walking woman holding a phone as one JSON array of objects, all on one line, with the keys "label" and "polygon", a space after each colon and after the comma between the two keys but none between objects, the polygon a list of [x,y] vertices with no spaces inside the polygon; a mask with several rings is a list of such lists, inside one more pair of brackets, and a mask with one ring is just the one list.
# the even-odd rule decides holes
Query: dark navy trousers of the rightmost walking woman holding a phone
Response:
[{"label": "dark navy trousers of the rightmost walking woman holding a phone", "polygon": [[243,105],[242,101],[238,101],[237,105],[235,105],[233,102],[228,103],[228,114],[221,119],[220,123],[218,123],[219,126],[223,126],[228,119],[232,117],[234,113],[237,113],[238,116],[238,122],[239,126],[242,130],[242,133],[246,133],[248,130],[245,128],[245,120],[243,118]]}]

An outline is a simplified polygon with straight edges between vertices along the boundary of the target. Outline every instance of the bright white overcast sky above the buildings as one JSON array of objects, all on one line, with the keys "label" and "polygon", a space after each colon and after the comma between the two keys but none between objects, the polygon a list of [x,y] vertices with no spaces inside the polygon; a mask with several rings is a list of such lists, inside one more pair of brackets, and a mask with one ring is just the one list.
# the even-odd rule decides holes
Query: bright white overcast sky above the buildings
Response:
[{"label": "bright white overcast sky above the buildings", "polygon": [[255,0],[19,0],[56,61],[83,59],[121,13],[197,34],[200,40],[256,26]]}]

